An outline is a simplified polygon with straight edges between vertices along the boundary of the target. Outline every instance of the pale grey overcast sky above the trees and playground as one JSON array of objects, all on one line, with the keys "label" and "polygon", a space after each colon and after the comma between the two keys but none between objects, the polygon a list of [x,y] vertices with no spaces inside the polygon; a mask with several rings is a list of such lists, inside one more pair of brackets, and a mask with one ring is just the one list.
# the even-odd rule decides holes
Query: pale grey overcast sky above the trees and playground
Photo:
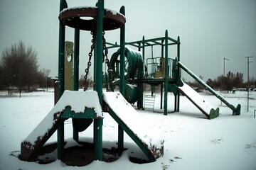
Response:
[{"label": "pale grey overcast sky above the trees and playground", "polygon": [[[95,6],[97,1],[67,0],[68,6]],[[1,0],[0,52],[22,40],[38,52],[41,68],[58,75],[59,0]],[[126,11],[126,41],[164,36],[181,37],[181,62],[206,81],[225,73],[242,72],[247,80],[246,56],[250,59],[250,77],[256,78],[256,0],[105,0],[105,8]],[[66,40],[73,41],[73,28],[67,28]],[[87,66],[90,33],[80,33],[80,74]],[[119,30],[107,31],[107,42],[119,42]],[[151,57],[151,48],[147,50]],[[171,48],[176,50],[176,48]],[[161,51],[154,49],[154,56]],[[170,52],[169,57],[176,57]],[[112,55],[112,53],[110,53]],[[188,76],[183,74],[188,79]]]}]

